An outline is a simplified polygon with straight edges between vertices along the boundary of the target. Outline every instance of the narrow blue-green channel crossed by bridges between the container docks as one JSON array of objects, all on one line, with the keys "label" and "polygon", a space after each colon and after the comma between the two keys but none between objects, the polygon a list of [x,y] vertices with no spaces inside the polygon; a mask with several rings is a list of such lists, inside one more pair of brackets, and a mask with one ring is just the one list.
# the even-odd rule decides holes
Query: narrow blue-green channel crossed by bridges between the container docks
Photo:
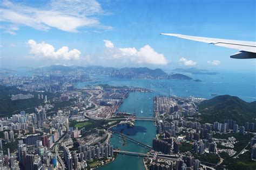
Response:
[{"label": "narrow blue-green channel crossed by bridges between the container docks", "polygon": [[[130,93],[124,103],[120,106],[119,111],[130,113],[136,111],[137,116],[153,117],[153,93]],[[136,121],[133,128],[127,128],[127,125],[118,125],[114,130],[136,139],[144,144],[152,146],[152,138],[156,136],[156,128],[153,122]],[[126,140],[126,145],[122,146],[123,139],[113,135],[110,140],[114,147],[121,148],[123,151],[133,151],[145,153],[148,150],[140,145]],[[119,154],[116,160],[102,166],[98,169],[145,169],[143,158]]]}]

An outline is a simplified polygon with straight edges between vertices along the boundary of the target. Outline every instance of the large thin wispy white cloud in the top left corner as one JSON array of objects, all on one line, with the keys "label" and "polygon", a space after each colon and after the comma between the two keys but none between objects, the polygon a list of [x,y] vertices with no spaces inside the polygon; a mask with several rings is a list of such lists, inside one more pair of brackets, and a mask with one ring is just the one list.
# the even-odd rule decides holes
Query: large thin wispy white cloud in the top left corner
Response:
[{"label": "large thin wispy white cloud in the top left corner", "polygon": [[[8,0],[0,1],[0,22],[15,25],[2,26],[5,32],[16,34],[19,26],[30,26],[37,30],[50,30],[55,27],[62,31],[78,32],[79,27],[95,26],[100,29],[111,29],[103,26],[92,15],[103,15],[100,4],[96,0],[64,0],[52,1],[50,4],[33,8]],[[46,7],[49,6],[49,7]]]}]

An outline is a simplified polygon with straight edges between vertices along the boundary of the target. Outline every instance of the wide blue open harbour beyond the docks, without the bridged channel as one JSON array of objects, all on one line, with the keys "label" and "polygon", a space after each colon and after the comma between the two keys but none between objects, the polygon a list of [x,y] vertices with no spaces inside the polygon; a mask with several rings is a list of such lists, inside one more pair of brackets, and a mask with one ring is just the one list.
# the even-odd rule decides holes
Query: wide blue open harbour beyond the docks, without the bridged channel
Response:
[{"label": "wide blue open harbour beyond the docks, without the bridged channel", "polygon": [[[92,77],[93,80],[79,82],[77,88],[84,88],[86,85],[109,84],[111,86],[129,86],[151,89],[156,95],[171,95],[189,97],[197,96],[210,99],[217,95],[238,96],[244,101],[253,102],[256,99],[256,77],[246,73],[219,73],[215,75],[194,75],[188,74],[194,80],[151,80],[151,79],[120,79],[111,77]],[[243,81],[238,81],[243,80]],[[228,87],[228,88],[227,88]]]}]

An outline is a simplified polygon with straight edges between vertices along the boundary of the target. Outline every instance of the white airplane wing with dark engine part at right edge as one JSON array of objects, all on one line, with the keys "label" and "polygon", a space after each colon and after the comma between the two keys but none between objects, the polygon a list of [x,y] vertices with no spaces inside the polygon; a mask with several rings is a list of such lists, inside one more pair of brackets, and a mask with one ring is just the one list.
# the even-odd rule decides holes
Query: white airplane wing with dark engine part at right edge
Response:
[{"label": "white airplane wing with dark engine part at right edge", "polygon": [[255,59],[256,58],[256,42],[255,41],[239,41],[239,40],[228,40],[228,39],[218,39],[218,38],[195,37],[195,36],[186,36],[182,34],[169,34],[169,33],[161,33],[161,34],[166,36],[189,39],[193,41],[206,42],[208,44],[213,44],[221,47],[239,49],[240,52],[230,56],[231,58],[234,58],[234,59]]}]

